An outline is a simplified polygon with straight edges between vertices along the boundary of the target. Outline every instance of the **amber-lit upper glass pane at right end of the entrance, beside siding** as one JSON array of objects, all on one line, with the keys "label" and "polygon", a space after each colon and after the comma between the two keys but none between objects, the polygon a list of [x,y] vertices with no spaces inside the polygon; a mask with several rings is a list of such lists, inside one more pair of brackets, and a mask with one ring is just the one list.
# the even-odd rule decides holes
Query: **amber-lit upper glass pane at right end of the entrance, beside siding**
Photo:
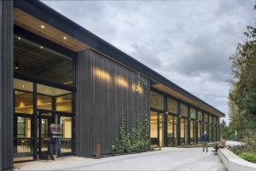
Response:
[{"label": "amber-lit upper glass pane at right end of the entrance, beside siding", "polygon": [[63,95],[56,98],[56,111],[72,112],[72,95]]}]

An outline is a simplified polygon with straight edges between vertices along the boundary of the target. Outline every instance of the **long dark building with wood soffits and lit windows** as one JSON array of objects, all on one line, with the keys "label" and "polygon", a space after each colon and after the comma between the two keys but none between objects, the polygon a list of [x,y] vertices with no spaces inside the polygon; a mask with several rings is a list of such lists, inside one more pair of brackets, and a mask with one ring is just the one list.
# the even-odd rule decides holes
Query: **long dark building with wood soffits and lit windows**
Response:
[{"label": "long dark building with wood soffits and lit windows", "polygon": [[[148,117],[151,148],[219,138],[224,113],[39,1],[0,2],[0,168],[44,159],[49,124],[60,125],[55,155],[111,152]],[[149,148],[149,146],[148,146]]]}]

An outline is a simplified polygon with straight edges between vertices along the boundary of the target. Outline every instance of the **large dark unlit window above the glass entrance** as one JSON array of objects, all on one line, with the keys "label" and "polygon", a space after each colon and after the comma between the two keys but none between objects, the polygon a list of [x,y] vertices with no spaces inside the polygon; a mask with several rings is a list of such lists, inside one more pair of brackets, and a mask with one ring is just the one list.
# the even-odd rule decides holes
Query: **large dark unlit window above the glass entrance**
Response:
[{"label": "large dark unlit window above the glass entrance", "polygon": [[24,37],[14,40],[14,68],[16,72],[73,85],[72,58]]}]

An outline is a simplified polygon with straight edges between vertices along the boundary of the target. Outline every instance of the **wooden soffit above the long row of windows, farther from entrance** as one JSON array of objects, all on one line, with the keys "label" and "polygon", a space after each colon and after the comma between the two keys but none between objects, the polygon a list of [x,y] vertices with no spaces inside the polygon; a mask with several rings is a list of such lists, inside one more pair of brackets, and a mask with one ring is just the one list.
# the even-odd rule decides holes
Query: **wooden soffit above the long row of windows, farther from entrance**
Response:
[{"label": "wooden soffit above the long row of windows, farther from entrance", "polygon": [[219,111],[217,111],[216,109],[212,108],[211,106],[205,105],[205,104],[203,104],[203,103],[201,103],[200,101],[197,101],[197,100],[192,100],[188,96],[183,95],[183,94],[177,92],[176,90],[174,90],[172,88],[166,87],[163,84],[156,83],[154,85],[151,85],[151,87],[156,88],[156,89],[158,89],[161,92],[164,92],[166,94],[170,94],[172,97],[175,97],[175,98],[177,98],[179,100],[183,100],[184,102],[186,102],[186,103],[188,103],[190,105],[194,105],[195,107],[201,109],[202,111],[206,111],[208,113],[211,113],[214,116],[224,117],[222,114],[220,114]]}]

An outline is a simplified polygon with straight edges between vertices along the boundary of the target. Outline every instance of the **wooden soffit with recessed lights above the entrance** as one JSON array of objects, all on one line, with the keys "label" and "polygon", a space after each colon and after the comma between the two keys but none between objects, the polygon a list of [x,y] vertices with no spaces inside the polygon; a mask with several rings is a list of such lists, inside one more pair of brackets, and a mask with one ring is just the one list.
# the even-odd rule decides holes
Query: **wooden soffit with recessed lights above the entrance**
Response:
[{"label": "wooden soffit with recessed lights above the entrance", "polygon": [[[14,22],[16,26],[20,26],[27,31],[31,31],[40,37],[44,37],[49,41],[73,50],[74,52],[79,52],[89,48],[87,44],[82,43],[76,38],[67,35],[63,31],[60,31],[53,26],[50,26],[42,20],[38,20],[36,17],[32,16],[31,14],[27,14],[21,9],[14,9]],[[44,28],[42,28],[42,26],[44,26]]]}]

